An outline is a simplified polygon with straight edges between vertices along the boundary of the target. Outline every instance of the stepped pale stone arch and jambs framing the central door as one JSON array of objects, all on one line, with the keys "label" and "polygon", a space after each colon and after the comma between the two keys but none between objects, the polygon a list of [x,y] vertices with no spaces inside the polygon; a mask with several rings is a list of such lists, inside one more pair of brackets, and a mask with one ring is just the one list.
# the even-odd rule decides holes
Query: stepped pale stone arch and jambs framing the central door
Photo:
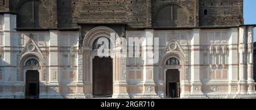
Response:
[{"label": "stepped pale stone arch and jambs framing the central door", "polygon": [[[117,57],[120,56],[118,50],[118,45],[115,45],[115,39],[119,38],[118,34],[109,27],[95,27],[91,29],[84,37],[82,43],[82,52],[80,53],[80,70],[79,79],[82,79],[84,83],[84,92],[86,97],[92,98],[93,97],[93,59],[97,57],[97,50],[93,49],[94,41],[97,40],[99,37],[105,37],[110,40],[110,43],[113,45],[113,54],[110,54],[107,57],[112,58],[112,65],[113,66],[113,98],[118,98],[122,96],[122,98],[127,98],[129,95],[127,94],[127,82],[126,82],[126,58]],[[81,60],[82,59],[82,60]],[[82,68],[82,69],[81,69]],[[122,81],[122,82],[121,82]],[[121,92],[121,93],[120,93]],[[124,97],[125,96],[125,97]]]}]

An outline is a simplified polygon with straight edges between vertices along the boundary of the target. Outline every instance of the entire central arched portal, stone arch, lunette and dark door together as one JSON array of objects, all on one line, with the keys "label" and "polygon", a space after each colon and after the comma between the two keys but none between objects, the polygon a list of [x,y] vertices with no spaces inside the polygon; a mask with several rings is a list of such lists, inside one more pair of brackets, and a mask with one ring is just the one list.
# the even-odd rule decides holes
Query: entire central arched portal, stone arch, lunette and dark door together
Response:
[{"label": "entire central arched portal, stone arch, lunette and dark door together", "polygon": [[99,26],[86,33],[83,45],[82,72],[85,93],[89,97],[115,96],[115,83],[121,78],[121,60],[117,57],[115,39],[118,34],[109,27]]}]

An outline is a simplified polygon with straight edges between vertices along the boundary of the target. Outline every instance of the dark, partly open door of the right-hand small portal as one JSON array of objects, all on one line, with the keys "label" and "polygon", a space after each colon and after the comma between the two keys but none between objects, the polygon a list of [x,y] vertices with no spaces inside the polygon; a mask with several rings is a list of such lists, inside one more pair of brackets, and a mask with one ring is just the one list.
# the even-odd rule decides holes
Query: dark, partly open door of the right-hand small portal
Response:
[{"label": "dark, partly open door of the right-hand small portal", "polygon": [[180,72],[179,70],[166,71],[166,97],[180,97]]}]

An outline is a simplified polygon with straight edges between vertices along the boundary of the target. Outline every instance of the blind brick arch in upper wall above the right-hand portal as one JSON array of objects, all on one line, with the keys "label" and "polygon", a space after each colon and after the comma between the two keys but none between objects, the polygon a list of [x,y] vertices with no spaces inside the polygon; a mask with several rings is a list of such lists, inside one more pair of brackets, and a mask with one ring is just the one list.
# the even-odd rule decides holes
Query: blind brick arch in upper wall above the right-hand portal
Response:
[{"label": "blind brick arch in upper wall above the right-hand portal", "polygon": [[[179,22],[175,23],[174,21],[172,21],[172,20],[174,20],[174,16],[171,16],[172,19],[170,18],[170,21],[164,21],[164,26],[162,26],[162,24],[159,24],[158,16],[159,16],[159,14],[161,14],[161,12],[164,10],[164,8],[167,8],[167,6],[177,6],[177,7],[180,7],[181,9],[183,9],[183,11],[185,12],[184,15],[185,15],[185,18],[186,18],[186,22],[184,22],[184,21],[180,22],[181,24]],[[173,10],[171,10],[171,11],[173,11]],[[166,12],[166,11],[163,11],[163,12],[164,12],[164,14],[166,14],[166,13],[168,14],[168,12]],[[170,12],[169,15],[171,15],[171,13],[174,13],[174,12]],[[183,5],[182,3],[175,2],[175,1],[165,2],[165,3],[163,3],[163,5],[159,6],[158,10],[154,14],[154,18],[153,18],[154,19],[154,25],[156,27],[187,27],[187,26],[189,26],[189,18],[191,18],[191,13],[192,13],[191,10],[188,10],[187,6]],[[161,15],[161,16],[163,16],[163,15]],[[161,17],[161,19],[164,19],[164,18]],[[179,20],[177,20],[177,21],[179,21]],[[171,23],[169,24],[167,22],[171,22]]]}]

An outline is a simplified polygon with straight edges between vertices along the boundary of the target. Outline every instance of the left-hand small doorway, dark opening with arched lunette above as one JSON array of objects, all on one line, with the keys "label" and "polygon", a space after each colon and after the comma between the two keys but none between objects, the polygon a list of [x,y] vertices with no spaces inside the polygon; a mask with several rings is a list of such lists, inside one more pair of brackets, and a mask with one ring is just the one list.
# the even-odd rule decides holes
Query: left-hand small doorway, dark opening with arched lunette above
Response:
[{"label": "left-hand small doorway, dark opening with arched lunette above", "polygon": [[39,98],[39,62],[36,58],[27,58],[25,62],[25,96],[26,98]]}]

